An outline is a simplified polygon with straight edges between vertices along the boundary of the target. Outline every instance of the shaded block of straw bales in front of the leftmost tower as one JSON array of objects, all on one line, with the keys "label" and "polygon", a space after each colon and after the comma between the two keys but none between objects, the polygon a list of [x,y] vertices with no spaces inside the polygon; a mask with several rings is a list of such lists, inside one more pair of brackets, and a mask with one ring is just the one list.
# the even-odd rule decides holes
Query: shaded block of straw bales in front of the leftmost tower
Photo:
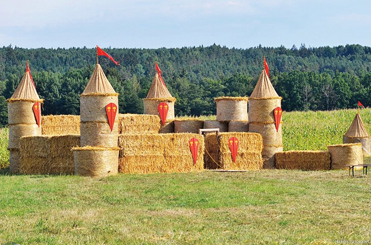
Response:
[{"label": "shaded block of straw bales in front of the leftmost tower", "polygon": [[79,135],[22,137],[19,171],[23,174],[73,174],[75,163],[71,149],[79,144]]}]

